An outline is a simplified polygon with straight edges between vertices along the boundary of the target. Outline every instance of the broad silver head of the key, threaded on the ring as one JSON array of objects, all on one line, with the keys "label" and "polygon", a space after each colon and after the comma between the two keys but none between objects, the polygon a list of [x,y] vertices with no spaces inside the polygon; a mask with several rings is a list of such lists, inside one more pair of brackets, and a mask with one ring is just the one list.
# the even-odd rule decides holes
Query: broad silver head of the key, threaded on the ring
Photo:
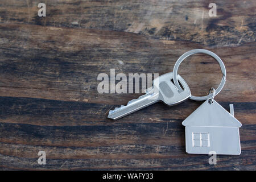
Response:
[{"label": "broad silver head of the key, threaded on the ring", "polygon": [[191,97],[190,89],[185,80],[177,75],[180,86],[183,88],[183,92],[180,92],[174,82],[172,82],[172,78],[173,73],[170,72],[159,76],[152,83],[154,88],[156,88],[155,92],[159,92],[159,100],[170,106],[179,104]]}]

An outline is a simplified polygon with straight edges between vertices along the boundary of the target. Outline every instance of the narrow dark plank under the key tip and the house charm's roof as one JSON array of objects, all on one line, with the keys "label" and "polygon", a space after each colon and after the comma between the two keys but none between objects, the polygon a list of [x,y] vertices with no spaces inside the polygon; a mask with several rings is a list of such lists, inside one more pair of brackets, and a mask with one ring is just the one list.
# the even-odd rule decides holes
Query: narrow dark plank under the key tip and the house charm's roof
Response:
[{"label": "narrow dark plank under the key tip and the house charm's roof", "polygon": [[[110,109],[118,105],[15,97],[1,97],[0,103],[2,123],[26,123],[37,126],[112,126],[114,123],[180,123],[202,102],[188,100],[172,107],[157,103],[114,122],[106,116]],[[229,110],[229,103],[219,103]],[[236,118],[242,123],[254,124],[255,102],[234,103],[234,110]]]}]

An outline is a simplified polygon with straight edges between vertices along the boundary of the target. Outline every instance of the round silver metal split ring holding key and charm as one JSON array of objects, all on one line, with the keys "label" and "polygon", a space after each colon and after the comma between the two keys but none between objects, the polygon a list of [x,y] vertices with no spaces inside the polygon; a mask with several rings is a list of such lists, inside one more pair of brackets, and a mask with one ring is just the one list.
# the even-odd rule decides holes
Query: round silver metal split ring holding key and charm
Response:
[{"label": "round silver metal split ring holding key and charm", "polygon": [[[216,59],[216,61],[218,61],[218,64],[220,65],[221,68],[221,72],[222,72],[222,79],[220,82],[220,85],[218,86],[218,88],[216,89],[216,93],[215,95],[217,95],[221,89],[223,88],[225,81],[226,81],[226,68],[224,63],[222,62],[222,60],[220,59],[220,57],[218,57],[215,53],[205,50],[205,49],[193,49],[191,51],[185,52],[183,55],[181,55],[179,57],[179,59],[176,61],[175,65],[174,65],[174,84],[177,86],[177,88],[179,89],[180,92],[183,91],[183,89],[181,88],[179,82],[177,81],[177,70],[179,68],[180,63],[186,59],[188,56],[191,56],[195,53],[205,53],[207,55],[212,56],[214,59]],[[201,97],[197,97],[197,96],[192,96],[190,97],[191,100],[195,100],[195,101],[204,101],[204,100],[208,100],[209,98],[212,97],[212,94],[209,94],[207,96],[201,96]]]}]

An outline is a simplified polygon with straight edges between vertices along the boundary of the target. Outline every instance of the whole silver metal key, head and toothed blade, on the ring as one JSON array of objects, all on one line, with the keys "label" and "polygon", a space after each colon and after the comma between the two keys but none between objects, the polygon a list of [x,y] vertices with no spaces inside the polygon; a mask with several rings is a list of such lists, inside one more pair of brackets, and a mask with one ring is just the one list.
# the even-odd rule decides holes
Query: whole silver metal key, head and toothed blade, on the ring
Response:
[{"label": "whole silver metal key, head and toothed blade, on the ring", "polygon": [[135,111],[147,107],[155,102],[162,101],[168,106],[179,104],[187,100],[191,96],[190,89],[183,78],[177,75],[177,78],[184,88],[183,92],[179,92],[175,84],[171,81],[173,73],[166,73],[156,78],[152,82],[152,87],[146,90],[146,94],[137,99],[131,100],[126,106],[115,107],[109,111],[108,118],[119,119],[125,115],[134,113]]}]

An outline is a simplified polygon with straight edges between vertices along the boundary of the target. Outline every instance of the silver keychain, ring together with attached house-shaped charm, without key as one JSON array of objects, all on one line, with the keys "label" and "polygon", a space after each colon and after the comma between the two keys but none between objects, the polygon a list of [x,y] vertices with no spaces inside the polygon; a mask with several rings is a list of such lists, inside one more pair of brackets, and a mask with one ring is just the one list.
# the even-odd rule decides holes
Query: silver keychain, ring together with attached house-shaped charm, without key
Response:
[{"label": "silver keychain, ring together with attached house-shaped charm, without key", "polygon": [[209,154],[214,151],[218,155],[240,155],[239,128],[242,124],[234,118],[233,105],[230,105],[229,113],[214,100],[214,96],[221,91],[226,81],[226,69],[220,57],[205,49],[194,49],[184,53],[174,66],[174,84],[180,92],[183,90],[177,80],[177,69],[186,57],[195,53],[205,53],[216,59],[223,76],[218,88],[210,89],[207,96],[189,97],[191,100],[205,102],[182,122],[185,126],[186,151],[188,154]]}]

